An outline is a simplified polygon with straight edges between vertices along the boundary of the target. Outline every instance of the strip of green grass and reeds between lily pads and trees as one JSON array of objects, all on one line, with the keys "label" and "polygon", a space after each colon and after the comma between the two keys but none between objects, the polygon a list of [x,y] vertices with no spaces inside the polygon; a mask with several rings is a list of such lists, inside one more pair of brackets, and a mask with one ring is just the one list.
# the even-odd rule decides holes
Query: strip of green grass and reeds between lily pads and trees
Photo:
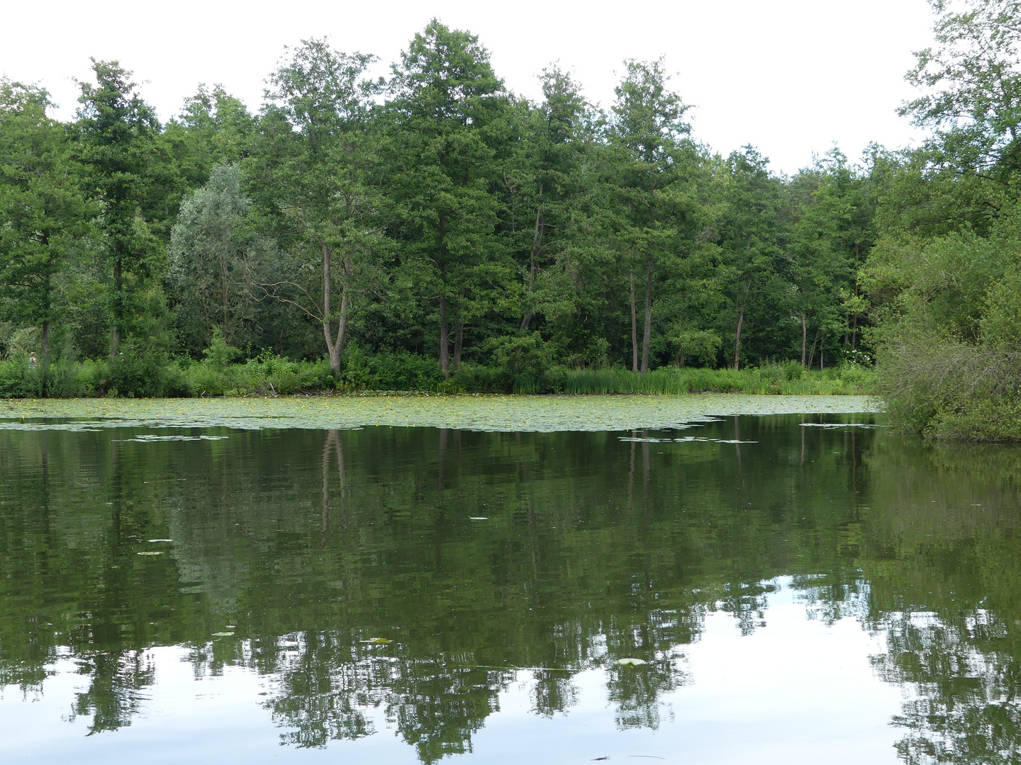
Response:
[{"label": "strip of green grass and reeds between lily pads and trees", "polygon": [[242,364],[144,361],[58,362],[30,367],[26,361],[0,361],[2,398],[113,398],[276,396],[296,393],[523,394],[687,394],[746,393],[807,395],[870,394],[875,373],[845,364],[824,371],[800,364],[770,364],[756,369],[664,367],[647,374],[625,369],[549,367],[541,374],[514,374],[503,368],[466,364],[443,379],[432,359],[411,354],[346,359],[339,375],[326,361],[290,361],[261,356]]}]

